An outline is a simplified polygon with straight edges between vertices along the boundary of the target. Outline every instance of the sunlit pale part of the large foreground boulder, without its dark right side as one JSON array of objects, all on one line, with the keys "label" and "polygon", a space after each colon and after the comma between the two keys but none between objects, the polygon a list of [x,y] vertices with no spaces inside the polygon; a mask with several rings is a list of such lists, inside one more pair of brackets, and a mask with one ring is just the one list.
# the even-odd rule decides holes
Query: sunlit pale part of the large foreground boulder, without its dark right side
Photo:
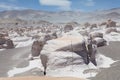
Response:
[{"label": "sunlit pale part of the large foreground boulder, without its dark right side", "polygon": [[[61,38],[48,41],[47,44],[44,46],[43,50],[41,51],[41,60],[45,68],[46,75],[56,77],[80,76],[81,73],[78,74],[79,71],[76,72],[75,68],[80,67],[80,65],[85,66],[86,64],[84,64],[84,61],[80,55],[70,50],[74,51],[74,47],[76,45],[79,47],[78,49],[76,47],[75,50],[82,50],[80,49],[80,46],[82,46],[81,43],[84,43],[84,38],[81,35],[66,35]],[[83,66],[81,66],[81,69],[82,67]],[[74,70],[77,74],[73,75],[72,70]],[[68,74],[68,72],[70,73]],[[80,72],[82,71],[80,70]]]}]

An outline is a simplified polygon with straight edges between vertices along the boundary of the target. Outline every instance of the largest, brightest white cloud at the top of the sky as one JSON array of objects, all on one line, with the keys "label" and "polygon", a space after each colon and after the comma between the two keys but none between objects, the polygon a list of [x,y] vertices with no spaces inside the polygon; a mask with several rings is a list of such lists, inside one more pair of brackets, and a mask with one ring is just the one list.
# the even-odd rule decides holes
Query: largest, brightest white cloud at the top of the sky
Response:
[{"label": "largest, brightest white cloud at the top of the sky", "polygon": [[71,10],[72,2],[69,0],[39,0],[41,5],[56,6],[61,10]]}]

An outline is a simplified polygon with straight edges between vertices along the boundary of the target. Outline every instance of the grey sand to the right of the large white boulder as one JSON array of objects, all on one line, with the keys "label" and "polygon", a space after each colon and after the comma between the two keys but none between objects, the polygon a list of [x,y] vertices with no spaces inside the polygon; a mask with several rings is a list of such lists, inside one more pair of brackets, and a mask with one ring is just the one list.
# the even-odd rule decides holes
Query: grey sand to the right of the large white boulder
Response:
[{"label": "grey sand to the right of the large white boulder", "polygon": [[[120,42],[110,42],[109,46],[101,47],[99,51],[113,60],[120,60]],[[91,80],[120,80],[120,61],[112,64],[110,68],[101,69]]]}]

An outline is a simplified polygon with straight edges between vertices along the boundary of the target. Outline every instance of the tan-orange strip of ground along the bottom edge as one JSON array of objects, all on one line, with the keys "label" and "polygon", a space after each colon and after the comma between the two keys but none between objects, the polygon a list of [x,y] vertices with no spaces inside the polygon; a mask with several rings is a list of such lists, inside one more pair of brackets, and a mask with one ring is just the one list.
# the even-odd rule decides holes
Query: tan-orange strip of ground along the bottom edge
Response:
[{"label": "tan-orange strip of ground along the bottom edge", "polygon": [[14,78],[0,78],[0,80],[84,80],[80,78],[53,78],[53,77],[38,77],[38,76],[29,76],[29,77],[14,77]]}]

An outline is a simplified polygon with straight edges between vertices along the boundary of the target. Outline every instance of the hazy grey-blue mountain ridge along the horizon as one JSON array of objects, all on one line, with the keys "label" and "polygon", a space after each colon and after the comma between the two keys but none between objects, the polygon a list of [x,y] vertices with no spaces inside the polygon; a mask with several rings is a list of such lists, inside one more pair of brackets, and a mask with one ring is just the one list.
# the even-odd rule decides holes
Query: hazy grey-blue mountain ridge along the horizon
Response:
[{"label": "hazy grey-blue mountain ridge along the horizon", "polygon": [[40,10],[11,10],[1,11],[0,19],[21,19],[21,20],[44,20],[49,22],[95,22],[106,19],[120,19],[120,8],[109,10],[80,12],[80,11],[61,11],[48,12]]}]

